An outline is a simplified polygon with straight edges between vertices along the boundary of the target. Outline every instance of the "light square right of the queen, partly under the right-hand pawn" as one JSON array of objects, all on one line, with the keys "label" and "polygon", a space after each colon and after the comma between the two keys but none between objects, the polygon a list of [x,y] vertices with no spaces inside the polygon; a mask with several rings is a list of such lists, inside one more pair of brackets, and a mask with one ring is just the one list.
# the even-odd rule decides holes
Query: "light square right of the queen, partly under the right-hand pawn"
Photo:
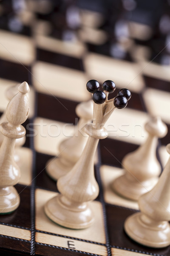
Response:
[{"label": "light square right of the queen, partly under the right-hand pawn", "polygon": [[113,183],[113,181],[117,177],[124,174],[123,169],[103,165],[100,168],[100,174],[102,177],[102,187],[104,193],[104,200],[106,203],[127,207],[130,209],[139,209],[137,202],[119,196],[111,188],[111,184]]}]

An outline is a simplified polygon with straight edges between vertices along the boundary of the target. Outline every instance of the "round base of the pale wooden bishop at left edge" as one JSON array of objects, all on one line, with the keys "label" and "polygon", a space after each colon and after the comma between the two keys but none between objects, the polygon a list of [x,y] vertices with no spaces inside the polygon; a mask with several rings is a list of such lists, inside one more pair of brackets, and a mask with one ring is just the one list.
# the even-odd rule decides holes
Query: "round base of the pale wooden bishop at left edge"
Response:
[{"label": "round base of the pale wooden bishop at left edge", "polygon": [[13,186],[0,189],[0,214],[13,212],[20,204],[20,196]]}]

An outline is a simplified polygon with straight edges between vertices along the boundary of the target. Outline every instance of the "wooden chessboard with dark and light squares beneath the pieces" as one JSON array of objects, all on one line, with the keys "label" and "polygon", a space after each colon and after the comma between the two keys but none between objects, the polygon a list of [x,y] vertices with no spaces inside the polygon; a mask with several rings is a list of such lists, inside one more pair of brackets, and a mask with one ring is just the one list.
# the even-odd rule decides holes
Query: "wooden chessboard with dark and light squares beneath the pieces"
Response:
[{"label": "wooden chessboard with dark and light squares beneath the pieces", "polygon": [[[161,116],[167,124],[168,134],[159,140],[157,148],[161,166],[167,161],[170,66],[149,59],[149,48],[140,43],[136,32],[142,25],[136,22],[130,24],[133,35],[127,40],[129,48],[123,57],[109,55],[108,42],[114,42],[113,52],[117,43],[115,38],[109,38],[111,24],[105,21],[101,6],[88,9],[82,4],[88,1],[79,1],[79,8],[70,5],[67,9],[62,1],[56,1],[55,16],[47,5],[53,1],[17,2],[25,6],[22,12],[17,12],[17,4],[14,5],[13,16],[10,16],[10,1],[0,2],[0,112],[8,104],[6,89],[27,81],[30,113],[23,124],[26,143],[19,149],[21,179],[15,186],[20,194],[20,206],[8,215],[0,215],[0,254],[170,255],[170,247],[144,247],[126,235],[125,219],[139,207],[111,189],[113,180],[124,172],[123,157],[144,143],[147,137],[144,124],[150,116]],[[59,3],[63,8],[59,8]],[[77,10],[81,18],[79,28]],[[75,19],[68,27],[65,17],[69,21],[73,14]],[[15,28],[14,24],[17,24]],[[75,133],[78,121],[75,108],[79,102],[91,99],[86,90],[90,79],[100,84],[111,79],[117,90],[126,87],[132,97],[127,108],[113,112],[106,124],[108,137],[99,142],[94,166],[99,184],[99,196],[93,202],[94,224],[84,230],[72,230],[53,223],[45,215],[45,203],[58,193],[56,182],[45,172],[45,165],[51,157],[59,157],[59,143]]]}]

